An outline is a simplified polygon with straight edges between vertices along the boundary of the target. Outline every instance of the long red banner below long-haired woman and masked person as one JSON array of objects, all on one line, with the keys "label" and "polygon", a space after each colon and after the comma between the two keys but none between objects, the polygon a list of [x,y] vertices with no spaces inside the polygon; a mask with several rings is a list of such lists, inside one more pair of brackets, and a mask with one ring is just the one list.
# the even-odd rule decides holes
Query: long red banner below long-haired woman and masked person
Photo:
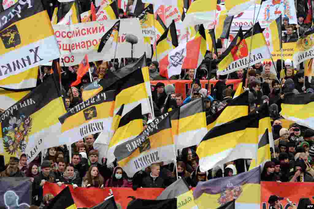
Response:
[{"label": "long red banner below long-haired woman and masked person", "polygon": [[[110,196],[109,189],[112,189],[115,201],[117,204],[122,206],[121,207],[122,209],[126,209],[127,204],[132,200],[131,198],[127,198],[128,196],[154,200],[164,190],[161,188],[138,188],[136,191],[134,191],[132,188],[117,188],[117,187],[105,187],[104,189],[98,189],[95,187],[90,188],[78,187],[73,189],[72,185],[69,185],[69,187],[74,199],[74,203],[78,208],[83,207],[90,208],[95,205],[98,205],[100,202],[104,201],[106,197]],[[57,184],[46,182],[46,184],[44,185],[44,195],[47,193],[51,193],[52,195],[56,196],[64,188],[65,188],[64,185],[58,186]]]}]

